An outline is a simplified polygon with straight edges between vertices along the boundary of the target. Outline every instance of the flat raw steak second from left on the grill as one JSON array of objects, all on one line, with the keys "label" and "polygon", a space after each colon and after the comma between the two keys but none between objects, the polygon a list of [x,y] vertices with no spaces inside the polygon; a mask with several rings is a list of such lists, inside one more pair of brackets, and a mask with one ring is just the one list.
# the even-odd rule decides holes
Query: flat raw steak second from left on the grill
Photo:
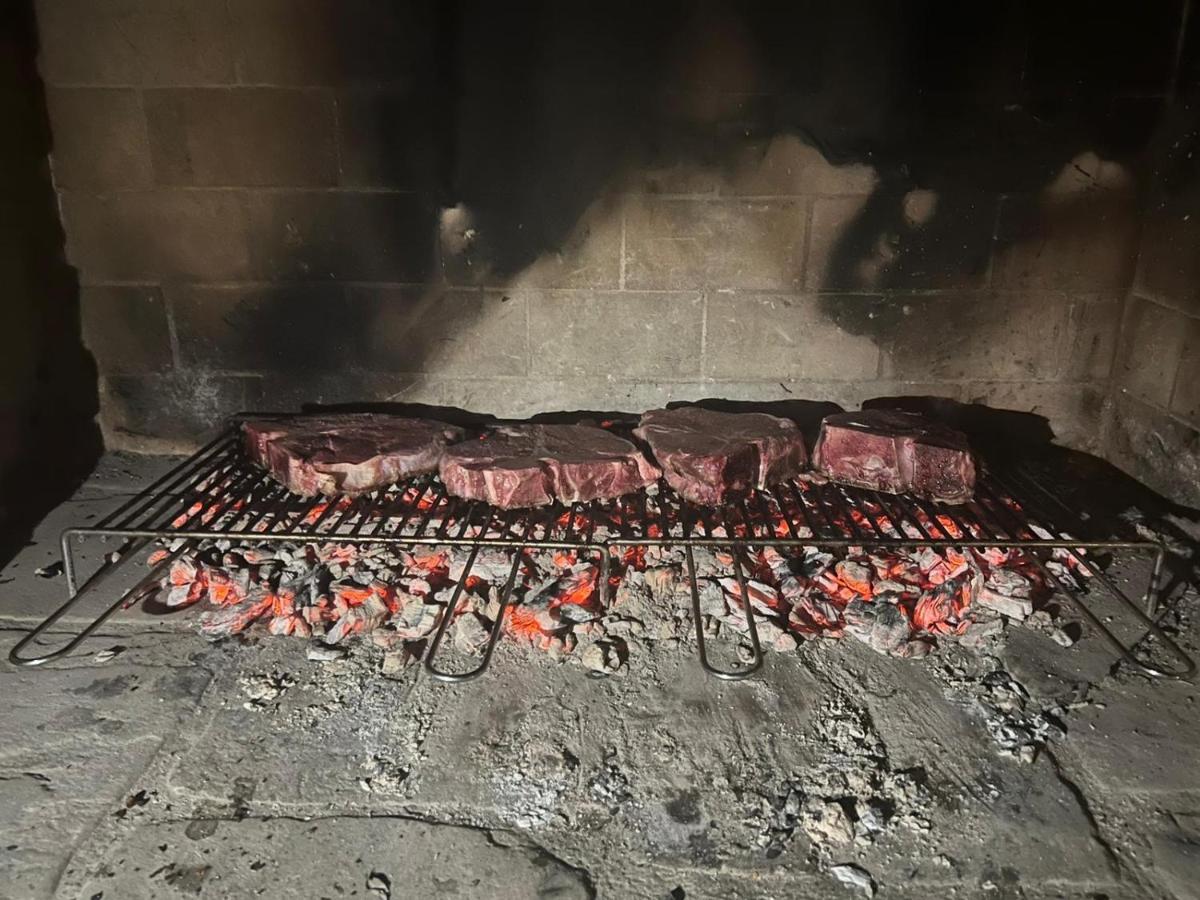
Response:
[{"label": "flat raw steak second from left on the grill", "polygon": [[502,509],[612,499],[659,478],[632,443],[589,425],[500,426],[448,448],[439,472],[455,497]]}]

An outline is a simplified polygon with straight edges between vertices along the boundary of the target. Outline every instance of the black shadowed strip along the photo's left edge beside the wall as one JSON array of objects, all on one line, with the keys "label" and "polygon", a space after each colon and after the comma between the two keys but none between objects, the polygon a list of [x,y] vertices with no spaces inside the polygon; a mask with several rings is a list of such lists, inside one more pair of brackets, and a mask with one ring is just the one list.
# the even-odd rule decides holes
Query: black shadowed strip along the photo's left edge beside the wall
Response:
[{"label": "black shadowed strip along the photo's left edge beside the wall", "polygon": [[0,565],[100,458],[96,371],[62,253],[31,2],[0,7]]}]

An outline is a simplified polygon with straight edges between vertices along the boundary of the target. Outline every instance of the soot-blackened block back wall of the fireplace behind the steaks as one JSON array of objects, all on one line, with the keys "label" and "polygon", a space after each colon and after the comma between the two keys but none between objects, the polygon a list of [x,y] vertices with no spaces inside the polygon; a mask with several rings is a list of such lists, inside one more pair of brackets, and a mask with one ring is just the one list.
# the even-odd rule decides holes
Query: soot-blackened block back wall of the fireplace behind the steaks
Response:
[{"label": "soot-blackened block back wall of the fireplace behind the steaks", "polygon": [[937,394],[1096,448],[1184,7],[1044,6],[40,0],[107,438]]}]

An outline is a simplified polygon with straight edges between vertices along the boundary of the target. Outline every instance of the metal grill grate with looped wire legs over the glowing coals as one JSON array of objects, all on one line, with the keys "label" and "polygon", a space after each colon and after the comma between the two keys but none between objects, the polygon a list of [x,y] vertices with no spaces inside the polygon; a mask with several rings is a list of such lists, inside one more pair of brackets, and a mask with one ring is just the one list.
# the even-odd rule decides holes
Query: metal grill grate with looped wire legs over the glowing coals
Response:
[{"label": "metal grill grate with looped wire legs over the glowing coals", "polygon": [[[241,450],[238,434],[238,425],[234,424],[96,524],[65,529],[60,538],[60,547],[68,599],[12,648],[8,654],[10,661],[19,666],[36,666],[71,653],[118,610],[142,599],[158,582],[166,566],[194,547],[197,541],[228,539],[468,548],[466,568],[455,587],[448,610],[440,616],[425,656],[428,673],[448,683],[466,682],[486,671],[503,632],[504,616],[512,599],[523,552],[575,550],[598,554],[600,601],[607,605],[612,551],[638,545],[684,548],[700,664],[709,674],[727,680],[746,678],[763,664],[742,558],[752,547],[767,546],[816,547],[824,551],[842,551],[848,547],[884,550],[953,547],[960,551],[1000,547],[1028,551],[1028,558],[1048,583],[1067,596],[1117,653],[1139,671],[1158,678],[1186,678],[1195,671],[1195,664],[1154,620],[1162,589],[1165,547],[1145,539],[1082,540],[1062,536],[1069,533],[1057,524],[1054,510],[1057,509],[1060,515],[1066,514],[1070,518],[1074,518],[1074,515],[1032,473],[1021,469],[1006,470],[1001,475],[991,467],[980,467],[974,499],[958,505],[923,500],[911,494],[883,494],[841,485],[791,481],[773,486],[768,491],[755,491],[748,498],[718,510],[690,504],[679,498],[665,482],[660,482],[653,499],[647,492],[640,492],[617,500],[577,503],[571,508],[554,504],[535,510],[505,511],[479,502],[450,498],[434,476],[410,479],[390,488],[341,503],[329,502],[326,498],[302,498],[288,492],[263,469],[252,464]],[[418,493],[406,500],[404,498],[413,491]],[[431,497],[430,505],[422,508],[420,500],[426,494]],[[209,502],[208,505],[204,500]],[[320,505],[323,503],[324,506]],[[196,504],[200,504],[202,509],[194,510]],[[656,520],[649,512],[652,504],[656,508]],[[616,517],[610,508],[617,511]],[[665,508],[670,509],[665,511]],[[440,512],[437,518],[436,512]],[[559,533],[556,526],[564,516],[566,522],[562,524]],[[577,526],[581,516],[584,522],[582,533]],[[596,523],[601,518],[611,523],[605,526],[606,530],[617,530],[618,534],[596,536]],[[372,521],[376,523],[368,529]],[[437,527],[433,527],[434,521]],[[776,533],[775,523],[779,521],[785,523],[786,535]],[[1078,522],[1078,518],[1075,521]],[[888,523],[889,529],[884,529],[884,523]],[[385,526],[390,528],[385,530]],[[950,526],[960,536],[954,536]],[[325,530],[322,530],[323,527]],[[473,533],[476,527],[482,529],[479,534]],[[656,534],[652,533],[655,527]],[[1040,536],[1034,530],[1036,527],[1051,536]],[[520,534],[516,533],[518,528]],[[919,536],[914,536],[913,533]],[[119,538],[122,545],[116,558],[106,558],[98,570],[80,584],[74,546],[92,538]],[[23,655],[26,647],[59,622],[84,596],[102,586],[126,562],[137,557],[156,540],[182,542],[132,588],[122,592],[115,602],[106,607],[65,646],[41,655]],[[500,595],[499,614],[475,668],[464,672],[438,668],[436,660],[446,629],[457,611],[463,586],[475,558],[484,547],[515,551],[512,566]],[[742,668],[719,668],[709,661],[700,612],[694,547],[726,547],[733,557],[733,571],[740,588],[751,644],[751,660]],[[1046,568],[1039,553],[1051,553],[1056,550],[1063,551],[1080,564],[1084,564],[1084,554],[1091,552],[1153,554],[1150,583],[1142,602],[1145,608],[1097,566],[1092,565],[1090,569],[1094,581],[1145,628],[1146,634],[1135,644],[1153,635],[1175,658],[1178,666],[1164,668],[1148,662],[1121,641],[1092,612],[1078,592],[1063,584]]]}]

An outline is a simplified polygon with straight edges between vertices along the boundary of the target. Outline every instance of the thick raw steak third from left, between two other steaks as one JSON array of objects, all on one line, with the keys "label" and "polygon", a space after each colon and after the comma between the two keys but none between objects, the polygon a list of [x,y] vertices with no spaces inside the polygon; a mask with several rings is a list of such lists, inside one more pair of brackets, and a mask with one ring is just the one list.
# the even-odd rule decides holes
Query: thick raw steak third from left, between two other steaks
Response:
[{"label": "thick raw steak third from left, between two other steaks", "polygon": [[796,424],[766,413],[652,409],[634,433],[650,445],[667,484],[707,505],[792,478],[808,462]]}]

